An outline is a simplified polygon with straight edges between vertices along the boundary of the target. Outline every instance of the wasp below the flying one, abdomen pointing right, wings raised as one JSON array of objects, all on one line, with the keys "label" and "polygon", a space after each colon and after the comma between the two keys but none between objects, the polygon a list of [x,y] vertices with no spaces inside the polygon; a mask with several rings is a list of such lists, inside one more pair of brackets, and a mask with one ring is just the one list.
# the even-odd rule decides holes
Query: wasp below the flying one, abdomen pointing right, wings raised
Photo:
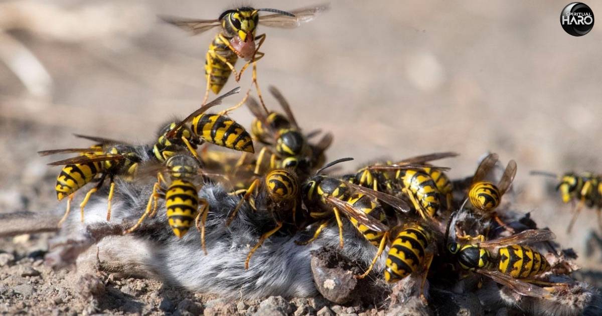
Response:
[{"label": "wasp below the flying one, abdomen pointing right, wings raised", "polygon": [[[152,155],[159,161],[166,161],[179,149],[187,148],[192,155],[198,158],[196,149],[203,141],[243,152],[255,152],[249,132],[226,116],[229,111],[240,107],[244,99],[243,102],[218,114],[205,113],[209,108],[221,104],[223,98],[238,93],[238,91],[240,91],[240,87],[203,105],[179,123],[169,123],[160,132],[157,143],[152,148]],[[189,121],[192,121],[191,125],[186,126]]]}]

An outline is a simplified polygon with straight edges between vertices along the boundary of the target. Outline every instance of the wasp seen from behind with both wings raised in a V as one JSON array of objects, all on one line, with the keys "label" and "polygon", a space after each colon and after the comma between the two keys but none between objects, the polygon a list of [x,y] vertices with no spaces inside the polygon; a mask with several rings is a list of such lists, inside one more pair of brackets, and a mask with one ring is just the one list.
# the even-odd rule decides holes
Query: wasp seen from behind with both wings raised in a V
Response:
[{"label": "wasp seen from behind with both wings raised in a V", "polygon": [[512,228],[506,225],[494,211],[498,205],[500,205],[501,197],[506,193],[514,176],[517,174],[517,163],[514,160],[510,160],[504,170],[504,174],[501,176],[498,185],[492,182],[485,181],[485,177],[491,171],[491,169],[497,164],[498,155],[497,153],[490,153],[487,155],[479,164],[476,172],[474,172],[471,185],[468,188],[468,200],[474,206],[479,209],[483,215],[492,217],[495,219],[500,226],[505,228],[509,232],[514,232]]}]

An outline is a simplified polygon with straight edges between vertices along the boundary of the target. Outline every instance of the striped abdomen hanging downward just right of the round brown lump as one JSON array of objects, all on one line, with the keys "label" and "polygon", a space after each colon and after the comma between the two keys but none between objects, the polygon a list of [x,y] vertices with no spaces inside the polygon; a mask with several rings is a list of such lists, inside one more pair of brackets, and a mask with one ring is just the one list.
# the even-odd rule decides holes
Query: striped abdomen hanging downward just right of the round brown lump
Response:
[{"label": "striped abdomen hanging downward just right of the round brown lump", "polygon": [[418,270],[432,240],[432,234],[418,225],[400,231],[386,256],[385,281],[397,282]]}]

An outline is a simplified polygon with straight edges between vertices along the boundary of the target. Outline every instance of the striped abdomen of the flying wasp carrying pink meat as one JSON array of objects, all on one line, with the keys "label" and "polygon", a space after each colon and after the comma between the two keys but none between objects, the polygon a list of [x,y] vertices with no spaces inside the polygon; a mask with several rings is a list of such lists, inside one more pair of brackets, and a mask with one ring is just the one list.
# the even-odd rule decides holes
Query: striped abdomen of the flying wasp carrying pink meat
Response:
[{"label": "striped abdomen of the flying wasp carrying pink meat", "polygon": [[[205,60],[205,75],[209,76],[209,88],[217,94],[220,93],[226,81],[230,78],[232,70],[222,60],[212,56],[211,52],[224,57],[232,66],[238,60],[238,55],[222,42],[219,34],[214,37],[213,42],[209,45],[207,60]],[[211,67],[209,67],[209,63],[211,63]]]}]

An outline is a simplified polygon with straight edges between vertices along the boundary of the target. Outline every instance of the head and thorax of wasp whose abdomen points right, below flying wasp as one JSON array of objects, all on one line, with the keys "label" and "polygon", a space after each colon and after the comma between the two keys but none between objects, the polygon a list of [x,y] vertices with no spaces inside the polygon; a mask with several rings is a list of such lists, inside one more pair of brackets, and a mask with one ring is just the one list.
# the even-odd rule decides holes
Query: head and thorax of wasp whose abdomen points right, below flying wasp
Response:
[{"label": "head and thorax of wasp whose abdomen points right, below flying wasp", "polygon": [[176,152],[185,149],[186,144],[182,141],[182,137],[188,140],[193,149],[196,149],[197,145],[200,143],[199,138],[196,135],[193,135],[190,129],[184,126],[179,128],[174,137],[166,137],[166,134],[175,128],[177,124],[178,123],[176,122],[169,123],[159,132],[157,142],[152,148],[152,156],[155,156],[158,161],[167,161],[170,157],[175,155]]}]

